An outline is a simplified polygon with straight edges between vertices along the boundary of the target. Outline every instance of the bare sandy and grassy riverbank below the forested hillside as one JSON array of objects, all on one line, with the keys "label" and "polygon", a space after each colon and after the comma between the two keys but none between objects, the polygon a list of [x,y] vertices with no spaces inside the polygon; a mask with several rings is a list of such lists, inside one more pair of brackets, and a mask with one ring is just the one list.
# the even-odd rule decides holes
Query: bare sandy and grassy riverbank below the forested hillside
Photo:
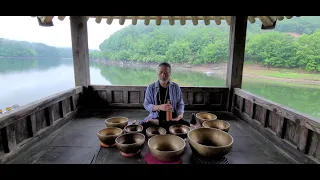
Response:
[{"label": "bare sandy and grassy riverbank below the forested hillside", "polygon": [[[94,62],[130,68],[156,69],[158,63],[136,61],[93,60]],[[227,74],[227,63],[206,63],[191,65],[188,63],[171,63],[173,71],[202,72],[208,76],[215,75],[223,79]],[[257,64],[244,64],[244,79],[271,80],[301,85],[320,85],[320,73],[306,72],[301,69],[267,68]]]}]

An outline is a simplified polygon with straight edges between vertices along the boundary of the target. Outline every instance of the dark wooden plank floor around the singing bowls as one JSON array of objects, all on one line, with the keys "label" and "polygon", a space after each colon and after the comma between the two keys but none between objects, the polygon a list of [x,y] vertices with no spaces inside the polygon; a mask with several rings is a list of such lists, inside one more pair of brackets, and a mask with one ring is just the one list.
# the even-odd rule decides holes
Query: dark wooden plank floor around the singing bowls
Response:
[{"label": "dark wooden plank floor around the singing bowls", "polygon": [[[185,112],[190,120],[192,111]],[[234,138],[231,152],[226,155],[230,164],[290,164],[297,163],[254,130],[246,122],[230,113],[215,112],[219,119],[230,123],[229,133]],[[125,116],[129,124],[142,120],[148,113],[144,110],[84,111],[68,124],[52,133],[30,150],[22,153],[12,163],[26,164],[144,164],[144,155],[149,151],[147,140],[141,154],[133,158],[120,155],[116,147],[101,148],[97,132],[105,127],[104,120],[112,116]],[[186,144],[182,163],[192,162],[192,152]]]}]

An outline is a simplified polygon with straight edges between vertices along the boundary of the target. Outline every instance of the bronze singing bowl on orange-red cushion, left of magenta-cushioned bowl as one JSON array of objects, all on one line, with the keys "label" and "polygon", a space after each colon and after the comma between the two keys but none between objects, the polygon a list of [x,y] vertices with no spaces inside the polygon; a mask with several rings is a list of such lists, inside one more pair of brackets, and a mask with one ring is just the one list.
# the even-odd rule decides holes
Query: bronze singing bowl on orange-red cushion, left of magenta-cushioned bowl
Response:
[{"label": "bronze singing bowl on orange-red cushion, left of magenta-cushioned bowl", "polygon": [[143,148],[145,136],[142,133],[127,133],[116,138],[117,148],[126,154],[136,153]]}]

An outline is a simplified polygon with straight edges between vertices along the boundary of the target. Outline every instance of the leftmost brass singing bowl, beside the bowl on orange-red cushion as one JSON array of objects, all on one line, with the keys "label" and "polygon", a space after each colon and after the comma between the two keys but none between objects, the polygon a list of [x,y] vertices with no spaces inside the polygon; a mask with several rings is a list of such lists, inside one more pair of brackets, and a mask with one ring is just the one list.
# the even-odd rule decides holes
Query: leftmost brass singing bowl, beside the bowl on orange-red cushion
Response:
[{"label": "leftmost brass singing bowl, beside the bowl on orange-red cushion", "polygon": [[122,134],[123,130],[117,127],[107,127],[98,132],[99,140],[106,145],[113,145],[115,139]]}]

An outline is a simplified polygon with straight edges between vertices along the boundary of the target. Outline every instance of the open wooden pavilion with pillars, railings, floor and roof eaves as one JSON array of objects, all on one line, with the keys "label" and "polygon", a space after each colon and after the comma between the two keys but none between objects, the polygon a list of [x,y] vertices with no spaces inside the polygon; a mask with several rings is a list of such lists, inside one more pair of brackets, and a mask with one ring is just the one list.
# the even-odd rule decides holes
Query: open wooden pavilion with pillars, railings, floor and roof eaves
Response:
[{"label": "open wooden pavilion with pillars, railings, floor and roof eaves", "polygon": [[[66,16],[58,16],[66,20]],[[92,85],[89,72],[87,20],[112,24],[119,19],[143,20],[145,25],[192,20],[230,25],[226,87],[181,87],[185,117],[198,111],[215,113],[231,124],[230,163],[319,163],[320,123],[241,89],[247,22],[272,29],[293,16],[71,16],[75,87],[0,114],[1,163],[143,163],[126,159],[116,149],[101,148],[97,131],[114,115],[142,119],[146,86]],[[54,16],[37,16],[41,26],[53,26]],[[145,153],[147,147],[144,148]],[[184,163],[190,163],[186,150]]]}]

